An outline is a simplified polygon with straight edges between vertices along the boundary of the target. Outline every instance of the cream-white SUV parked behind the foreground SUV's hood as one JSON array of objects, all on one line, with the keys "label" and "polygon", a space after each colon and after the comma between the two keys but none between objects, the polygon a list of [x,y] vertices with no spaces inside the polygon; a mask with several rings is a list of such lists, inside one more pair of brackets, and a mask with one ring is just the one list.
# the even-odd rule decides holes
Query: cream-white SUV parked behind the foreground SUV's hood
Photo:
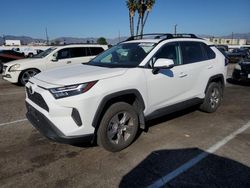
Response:
[{"label": "cream-white SUV parked behind the foreground SUV's hood", "polygon": [[68,64],[87,63],[106,49],[107,45],[96,44],[51,47],[32,58],[4,64],[2,77],[11,83],[25,85],[30,77],[41,71]]}]

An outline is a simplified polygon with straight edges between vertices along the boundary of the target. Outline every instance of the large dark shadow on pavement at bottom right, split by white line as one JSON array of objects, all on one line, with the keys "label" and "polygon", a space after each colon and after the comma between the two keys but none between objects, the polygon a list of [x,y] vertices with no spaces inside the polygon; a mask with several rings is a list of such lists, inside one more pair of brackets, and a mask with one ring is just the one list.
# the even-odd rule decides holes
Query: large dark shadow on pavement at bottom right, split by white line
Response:
[{"label": "large dark shadow on pavement at bottom right, split by white line", "polygon": [[[198,148],[154,151],[122,178],[119,187],[147,187],[203,152]],[[250,187],[250,168],[208,154],[164,187]]]}]

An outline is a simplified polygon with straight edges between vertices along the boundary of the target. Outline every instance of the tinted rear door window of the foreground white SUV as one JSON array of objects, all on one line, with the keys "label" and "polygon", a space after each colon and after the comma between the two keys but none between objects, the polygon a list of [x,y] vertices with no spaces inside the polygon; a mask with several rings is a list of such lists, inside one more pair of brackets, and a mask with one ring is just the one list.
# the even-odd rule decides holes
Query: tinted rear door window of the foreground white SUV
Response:
[{"label": "tinted rear door window of the foreground white SUV", "polygon": [[207,60],[200,42],[181,42],[183,64]]}]

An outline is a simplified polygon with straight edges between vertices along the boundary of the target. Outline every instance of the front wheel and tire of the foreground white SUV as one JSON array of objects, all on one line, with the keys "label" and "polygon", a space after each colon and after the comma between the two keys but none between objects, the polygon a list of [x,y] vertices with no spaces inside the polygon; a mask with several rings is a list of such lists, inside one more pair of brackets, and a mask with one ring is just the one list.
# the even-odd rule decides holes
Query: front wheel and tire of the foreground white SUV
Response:
[{"label": "front wheel and tire of the foreground white SUV", "polygon": [[108,151],[121,151],[134,141],[138,127],[135,109],[128,103],[117,102],[107,109],[101,120],[97,143]]}]

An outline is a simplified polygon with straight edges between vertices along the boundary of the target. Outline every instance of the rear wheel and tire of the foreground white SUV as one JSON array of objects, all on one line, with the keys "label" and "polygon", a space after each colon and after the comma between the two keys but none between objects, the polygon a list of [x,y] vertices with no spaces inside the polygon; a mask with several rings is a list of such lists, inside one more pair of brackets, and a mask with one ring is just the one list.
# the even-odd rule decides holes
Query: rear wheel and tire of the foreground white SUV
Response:
[{"label": "rear wheel and tire of the foreground white SUV", "polygon": [[217,110],[222,101],[222,88],[221,84],[212,82],[207,88],[205,99],[200,105],[200,110],[207,113],[212,113]]}]

